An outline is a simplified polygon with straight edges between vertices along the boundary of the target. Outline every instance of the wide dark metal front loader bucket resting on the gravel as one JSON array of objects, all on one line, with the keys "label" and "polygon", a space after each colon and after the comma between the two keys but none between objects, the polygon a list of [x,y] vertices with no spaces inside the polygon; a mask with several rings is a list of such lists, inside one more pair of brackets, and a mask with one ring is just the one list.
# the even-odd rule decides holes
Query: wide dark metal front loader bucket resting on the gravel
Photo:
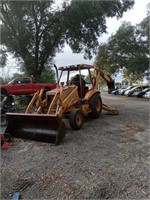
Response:
[{"label": "wide dark metal front loader bucket resting on the gravel", "polygon": [[7,113],[6,133],[12,137],[59,144],[66,126],[56,115]]}]

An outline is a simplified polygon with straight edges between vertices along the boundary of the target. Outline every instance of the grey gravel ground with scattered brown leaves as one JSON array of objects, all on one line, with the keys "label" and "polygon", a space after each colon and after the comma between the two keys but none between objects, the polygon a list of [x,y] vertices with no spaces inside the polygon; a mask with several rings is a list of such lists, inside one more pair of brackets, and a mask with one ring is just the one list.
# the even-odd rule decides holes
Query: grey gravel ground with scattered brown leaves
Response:
[{"label": "grey gravel ground with scattered brown leaves", "polygon": [[103,111],[79,131],[67,124],[58,146],[15,139],[1,150],[0,199],[150,199],[149,100],[102,100],[120,114]]}]

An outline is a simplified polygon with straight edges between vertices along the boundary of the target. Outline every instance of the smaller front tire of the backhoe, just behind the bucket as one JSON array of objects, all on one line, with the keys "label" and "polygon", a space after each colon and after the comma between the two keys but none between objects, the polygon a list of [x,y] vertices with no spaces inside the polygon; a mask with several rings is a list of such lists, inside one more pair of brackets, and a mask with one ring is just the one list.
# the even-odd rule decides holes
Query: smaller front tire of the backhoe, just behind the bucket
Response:
[{"label": "smaller front tire of the backhoe, just behind the bucket", "polygon": [[81,110],[74,109],[69,114],[69,124],[74,130],[79,130],[83,126],[84,116]]}]

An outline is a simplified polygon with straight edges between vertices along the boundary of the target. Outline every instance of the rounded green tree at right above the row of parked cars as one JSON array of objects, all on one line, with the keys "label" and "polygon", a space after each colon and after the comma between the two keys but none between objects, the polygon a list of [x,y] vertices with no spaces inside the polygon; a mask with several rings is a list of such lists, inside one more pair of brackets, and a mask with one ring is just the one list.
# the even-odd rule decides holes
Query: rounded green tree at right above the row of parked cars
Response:
[{"label": "rounded green tree at right above the row of parked cars", "polygon": [[124,22],[108,42],[99,47],[95,65],[106,66],[110,73],[126,69],[132,79],[140,79],[148,69],[148,17],[132,26]]}]

